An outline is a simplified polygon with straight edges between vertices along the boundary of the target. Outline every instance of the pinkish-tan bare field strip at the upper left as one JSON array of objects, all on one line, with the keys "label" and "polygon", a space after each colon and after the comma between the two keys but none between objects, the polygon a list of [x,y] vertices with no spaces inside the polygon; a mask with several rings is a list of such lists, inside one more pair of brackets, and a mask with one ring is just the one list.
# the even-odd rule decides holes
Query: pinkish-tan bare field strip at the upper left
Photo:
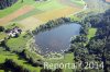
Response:
[{"label": "pinkish-tan bare field strip at the upper left", "polygon": [[33,9],[34,9],[34,7],[24,5],[21,9],[19,9],[18,11],[13,12],[12,14],[9,14],[8,16],[0,19],[0,25],[3,25],[6,23],[16,19],[18,16],[23,15],[23,14],[32,11]]}]

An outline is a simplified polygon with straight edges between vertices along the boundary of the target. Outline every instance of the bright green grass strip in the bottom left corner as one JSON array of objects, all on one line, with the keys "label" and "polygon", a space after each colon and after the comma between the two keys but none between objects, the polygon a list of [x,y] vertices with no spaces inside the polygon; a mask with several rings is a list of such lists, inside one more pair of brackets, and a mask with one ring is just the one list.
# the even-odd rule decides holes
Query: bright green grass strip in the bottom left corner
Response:
[{"label": "bright green grass strip in the bottom left corner", "polygon": [[[0,47],[0,63],[3,63],[6,59],[14,60],[19,65],[29,69],[31,72],[40,72],[41,68],[34,68],[31,64],[28,64],[25,60],[20,59],[18,55],[11,53],[9,51],[4,51],[3,48]],[[3,70],[0,70],[0,72]]]}]

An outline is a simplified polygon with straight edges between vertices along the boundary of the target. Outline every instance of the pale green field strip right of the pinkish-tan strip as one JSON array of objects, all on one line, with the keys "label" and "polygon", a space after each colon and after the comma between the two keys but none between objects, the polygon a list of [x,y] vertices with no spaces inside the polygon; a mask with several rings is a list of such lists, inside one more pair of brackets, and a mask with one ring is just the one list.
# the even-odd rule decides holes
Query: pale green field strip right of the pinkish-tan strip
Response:
[{"label": "pale green field strip right of the pinkish-tan strip", "polygon": [[41,4],[32,4],[35,9],[33,11],[28,12],[26,14],[23,14],[19,17],[16,17],[14,21],[21,21],[23,19],[26,19],[29,16],[35,15],[35,14],[41,14],[46,11],[52,11],[54,9],[61,9],[64,8],[65,5],[61,4],[58,1],[53,0],[53,1],[47,1]]}]

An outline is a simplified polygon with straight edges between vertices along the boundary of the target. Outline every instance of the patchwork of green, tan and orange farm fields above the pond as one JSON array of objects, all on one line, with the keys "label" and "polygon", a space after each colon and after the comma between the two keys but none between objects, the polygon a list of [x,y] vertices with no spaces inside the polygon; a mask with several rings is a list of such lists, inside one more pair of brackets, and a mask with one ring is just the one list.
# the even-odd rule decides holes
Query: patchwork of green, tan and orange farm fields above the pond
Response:
[{"label": "patchwork of green, tan and orange farm fields above the pond", "polygon": [[11,8],[0,10],[0,25],[18,23],[24,26],[25,31],[32,29],[50,20],[74,14],[82,10],[84,5],[81,0],[48,0],[43,2],[24,0],[22,3],[19,0]]}]

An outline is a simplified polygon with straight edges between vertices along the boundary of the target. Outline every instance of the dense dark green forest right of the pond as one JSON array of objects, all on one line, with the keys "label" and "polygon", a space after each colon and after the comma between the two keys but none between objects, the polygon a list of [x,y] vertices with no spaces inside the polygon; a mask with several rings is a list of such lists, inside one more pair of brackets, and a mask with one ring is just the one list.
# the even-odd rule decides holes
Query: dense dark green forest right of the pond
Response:
[{"label": "dense dark green forest right of the pond", "polygon": [[[75,61],[81,61],[82,65],[79,72],[109,72],[110,71],[110,10],[106,13],[89,15],[82,21],[84,28],[80,36],[72,40],[69,51],[75,55]],[[91,27],[97,28],[96,36],[86,43],[89,23]],[[88,64],[87,62],[94,62]],[[97,64],[95,64],[97,62]],[[86,69],[86,67],[88,69]]]}]

